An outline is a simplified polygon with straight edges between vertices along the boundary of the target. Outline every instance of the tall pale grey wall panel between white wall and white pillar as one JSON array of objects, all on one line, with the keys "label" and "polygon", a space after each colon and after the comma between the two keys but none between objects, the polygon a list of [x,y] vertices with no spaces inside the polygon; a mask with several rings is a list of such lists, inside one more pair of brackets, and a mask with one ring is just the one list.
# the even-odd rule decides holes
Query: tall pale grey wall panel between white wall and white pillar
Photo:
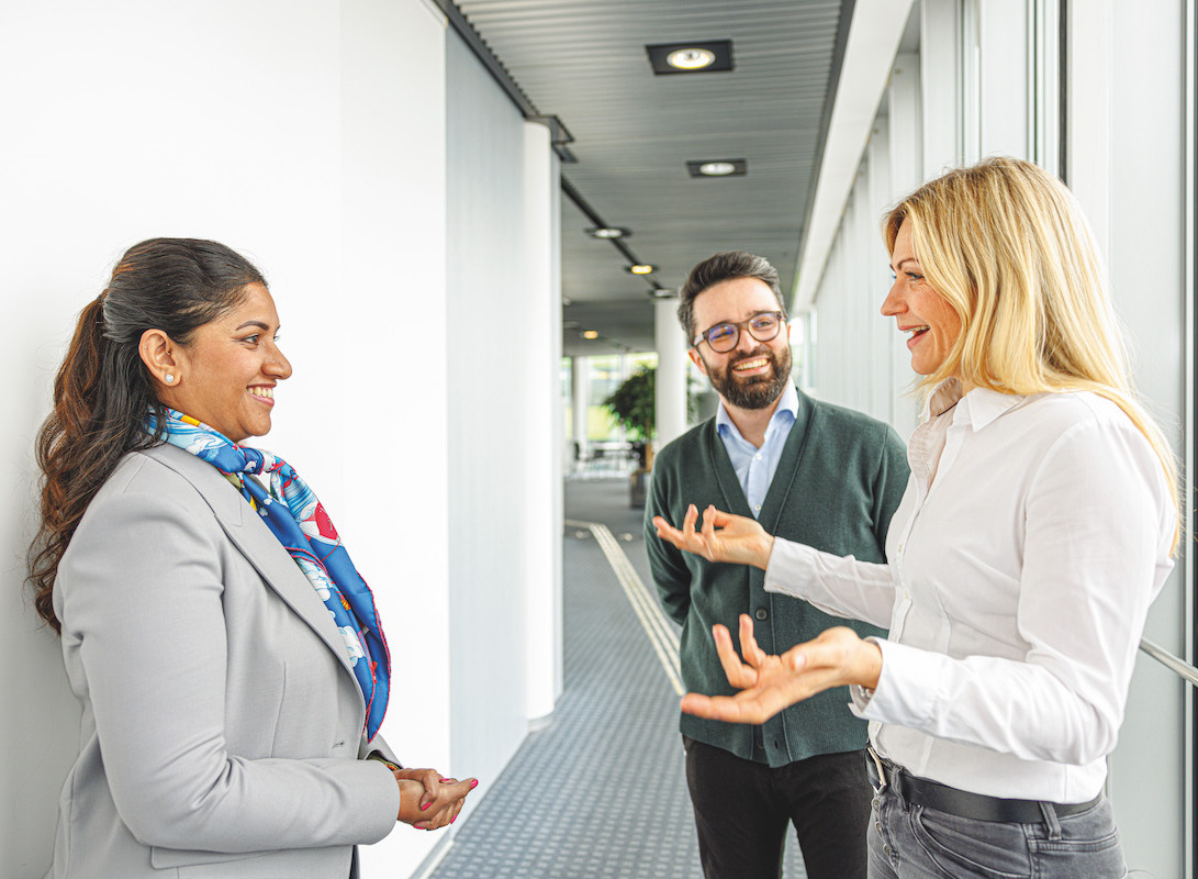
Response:
[{"label": "tall pale grey wall panel between white wall and white pillar", "polygon": [[[452,753],[495,778],[527,730],[522,559],[506,514],[526,483],[524,119],[465,43],[446,38]],[[409,368],[418,407],[424,367]]]}]

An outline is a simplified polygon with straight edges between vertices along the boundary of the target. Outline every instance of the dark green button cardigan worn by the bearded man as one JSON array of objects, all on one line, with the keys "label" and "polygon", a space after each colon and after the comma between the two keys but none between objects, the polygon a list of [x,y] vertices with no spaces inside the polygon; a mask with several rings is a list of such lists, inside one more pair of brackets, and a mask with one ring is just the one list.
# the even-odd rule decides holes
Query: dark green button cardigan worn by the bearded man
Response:
[{"label": "dark green button cardigan worn by the bearded man", "polygon": [[[885,561],[890,517],[902,499],[909,468],[893,428],[861,413],[799,392],[799,411],[758,520],[773,535],[861,561]],[[682,625],[682,674],[688,691],[734,692],[712,642],[722,622],[739,649],[738,614],[754,615],[757,643],[780,654],[825,628],[846,625],[785,595],[764,591],[766,572],[709,562],[657,536],[653,517],[679,524],[686,505],[700,514],[708,504],[751,516],[715,419],[667,445],[653,462],[645,505],[645,546],[661,603]],[[764,618],[764,619],[763,619]],[[884,634],[855,620],[863,637]],[[754,748],[755,727],[682,715],[683,735],[737,757],[782,766],[815,754],[865,747],[866,724],[848,710],[848,688],[835,687],[775,715],[761,728],[764,751]]]}]

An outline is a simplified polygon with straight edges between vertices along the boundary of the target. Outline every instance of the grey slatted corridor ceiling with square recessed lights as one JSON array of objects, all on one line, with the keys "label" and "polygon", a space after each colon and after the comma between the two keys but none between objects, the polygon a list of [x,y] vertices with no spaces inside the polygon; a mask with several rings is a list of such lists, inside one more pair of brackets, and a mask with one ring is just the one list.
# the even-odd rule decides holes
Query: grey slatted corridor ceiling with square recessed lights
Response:
[{"label": "grey slatted corridor ceiling with square recessed lights", "polygon": [[[565,354],[652,350],[651,287],[677,288],[713,253],[769,259],[793,288],[845,0],[459,0],[528,101],[574,137],[562,175],[627,246],[624,270],[562,197]],[[845,23],[847,26],[847,22]],[[647,44],[732,40],[736,70],[654,76]],[[686,162],[743,158],[743,177]],[[588,342],[581,330],[600,338]]]}]

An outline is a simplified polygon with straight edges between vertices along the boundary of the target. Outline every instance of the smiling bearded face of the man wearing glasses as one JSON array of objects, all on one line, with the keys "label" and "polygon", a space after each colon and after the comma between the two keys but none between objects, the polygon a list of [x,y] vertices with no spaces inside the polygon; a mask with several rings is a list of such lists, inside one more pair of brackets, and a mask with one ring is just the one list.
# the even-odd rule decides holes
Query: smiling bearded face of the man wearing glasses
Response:
[{"label": "smiling bearded face of the man wearing glasses", "polygon": [[[721,323],[742,323],[762,312],[779,311],[769,284],[760,278],[730,278],[695,297],[696,335]],[[737,347],[713,351],[704,341],[690,349],[690,359],[707,375],[725,405],[766,409],[773,405],[791,380],[789,325],[769,342],[758,342],[742,326]]]}]

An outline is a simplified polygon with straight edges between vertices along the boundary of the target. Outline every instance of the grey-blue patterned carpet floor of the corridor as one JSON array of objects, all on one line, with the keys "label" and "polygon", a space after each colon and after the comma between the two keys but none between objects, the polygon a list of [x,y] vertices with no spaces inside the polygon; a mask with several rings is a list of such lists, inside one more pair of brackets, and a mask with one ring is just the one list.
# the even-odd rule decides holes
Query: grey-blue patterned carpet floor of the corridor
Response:
[{"label": "grey-blue patterned carpet floor of the corridor", "polygon": [[[627,481],[567,482],[652,589]],[[678,698],[589,531],[564,535],[564,692],[430,879],[701,879]],[[803,879],[793,837],[783,879]]]}]

